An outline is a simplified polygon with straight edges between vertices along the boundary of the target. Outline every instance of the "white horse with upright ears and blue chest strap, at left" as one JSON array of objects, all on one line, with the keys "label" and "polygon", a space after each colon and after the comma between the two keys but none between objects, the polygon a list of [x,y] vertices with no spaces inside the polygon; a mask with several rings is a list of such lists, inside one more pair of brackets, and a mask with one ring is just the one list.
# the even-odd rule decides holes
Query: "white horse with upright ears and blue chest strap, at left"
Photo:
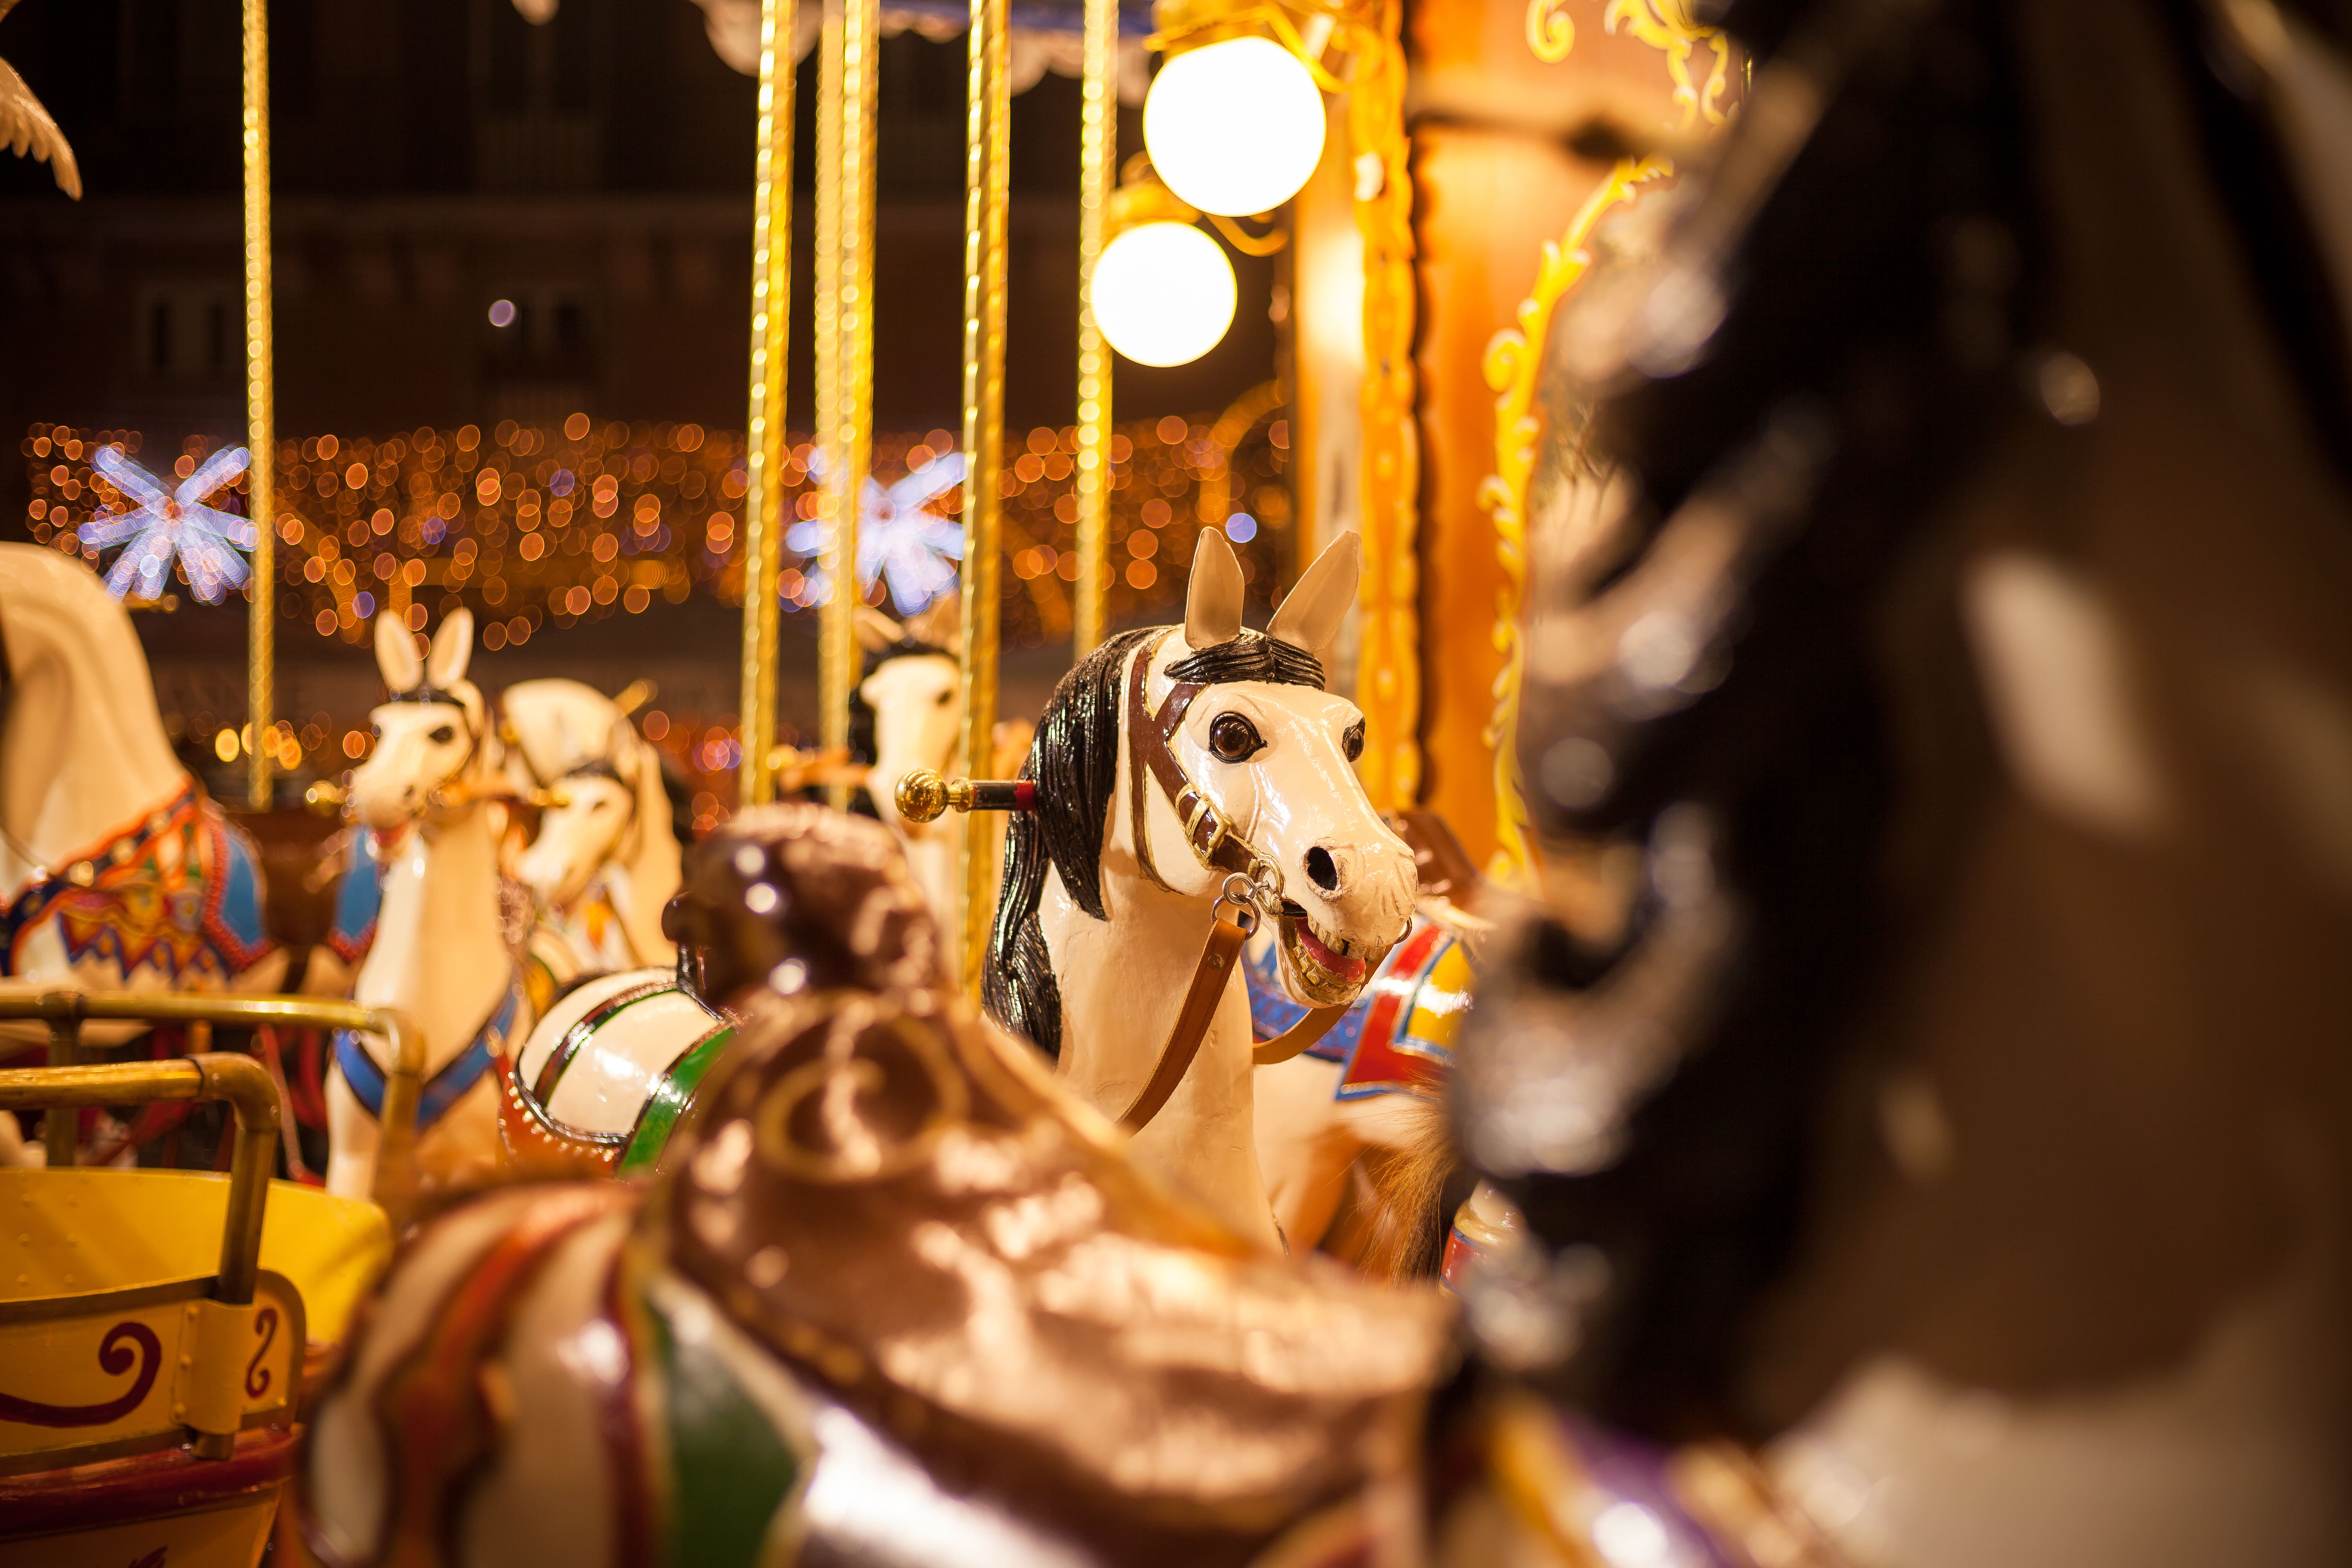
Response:
[{"label": "white horse with upright ears and blue chest strap, at left", "polygon": [[[388,698],[376,745],[350,776],[350,811],[372,839],[381,903],[353,994],[423,1027],[416,1105],[421,1185],[452,1187],[499,1166],[499,1077],[529,1034],[522,900],[499,877],[492,799],[499,738],[466,679],[473,614],[452,611],[428,656],[397,616],[376,616]],[[339,1032],[327,1077],[327,1190],[365,1197],[383,1112],[381,1041]]]}]

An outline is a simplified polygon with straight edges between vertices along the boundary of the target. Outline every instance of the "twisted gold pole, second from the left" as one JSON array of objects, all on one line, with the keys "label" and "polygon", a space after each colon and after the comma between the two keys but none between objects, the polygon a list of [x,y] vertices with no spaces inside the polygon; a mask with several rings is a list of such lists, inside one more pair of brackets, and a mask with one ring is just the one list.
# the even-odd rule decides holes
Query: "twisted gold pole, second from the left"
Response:
[{"label": "twisted gold pole, second from the left", "polygon": [[743,804],[774,799],[783,350],[793,324],[793,0],[760,2],[760,158],[750,209],[750,421],[743,430]]}]

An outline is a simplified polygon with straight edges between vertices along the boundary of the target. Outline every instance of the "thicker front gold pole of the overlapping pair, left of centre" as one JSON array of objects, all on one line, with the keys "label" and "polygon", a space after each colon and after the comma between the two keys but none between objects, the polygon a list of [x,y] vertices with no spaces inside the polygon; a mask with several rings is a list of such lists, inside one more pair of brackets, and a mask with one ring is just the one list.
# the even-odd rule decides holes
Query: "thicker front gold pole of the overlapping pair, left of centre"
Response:
[{"label": "thicker front gold pole of the overlapping pair, left of centre", "polygon": [[[828,336],[821,346],[828,374],[821,433],[826,449],[826,517],[833,541],[826,576],[833,597],[823,609],[818,644],[818,717],[826,748],[849,745],[849,698],[858,684],[858,496],[873,468],[875,383],[875,82],[882,49],[877,0],[847,0],[826,16],[823,101],[826,129],[818,148],[818,186],[830,195],[826,223],[830,242],[816,280],[826,303]],[[823,158],[833,153],[830,162]],[[835,806],[849,804],[847,785],[833,785]]]}]

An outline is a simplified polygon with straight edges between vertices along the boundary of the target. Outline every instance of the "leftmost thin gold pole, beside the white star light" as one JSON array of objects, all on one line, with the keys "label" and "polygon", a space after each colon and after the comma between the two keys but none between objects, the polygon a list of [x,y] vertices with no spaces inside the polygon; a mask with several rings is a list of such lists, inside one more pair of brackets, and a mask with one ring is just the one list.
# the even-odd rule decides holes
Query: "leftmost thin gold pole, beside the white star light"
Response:
[{"label": "leftmost thin gold pole, beside the white star light", "polygon": [[252,771],[245,799],[270,806],[270,719],[278,705],[278,395],[270,341],[270,16],[245,0],[245,470],[254,522],[252,618],[245,646],[245,693]]}]

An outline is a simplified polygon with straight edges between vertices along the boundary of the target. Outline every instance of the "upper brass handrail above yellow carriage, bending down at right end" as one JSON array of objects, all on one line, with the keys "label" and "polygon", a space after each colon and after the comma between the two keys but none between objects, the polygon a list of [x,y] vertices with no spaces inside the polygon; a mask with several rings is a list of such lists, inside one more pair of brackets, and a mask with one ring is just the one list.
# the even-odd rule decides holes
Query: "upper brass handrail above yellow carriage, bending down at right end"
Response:
[{"label": "upper brass handrail above yellow carriage, bending down at right end", "polygon": [[[381,1034],[393,1046],[393,1065],[383,1074],[383,1121],[376,1140],[376,1175],[369,1197],[397,1227],[416,1197],[416,1095],[426,1077],[426,1037],[416,1020],[388,1006],[332,1001],[327,997],[216,997],[183,992],[40,992],[0,997],[0,1020],[40,1018],[49,1025],[49,1070],[75,1067],[85,1020],[132,1023],[214,1023],[214,1025],[292,1025],[299,1030],[355,1030]],[[188,1058],[198,1060],[198,1058]],[[111,1067],[132,1072],[136,1065]],[[259,1070],[259,1067],[256,1067]],[[263,1074],[268,1084],[268,1074]],[[275,1084],[270,1088],[270,1128],[278,1128]],[[127,1105],[139,1095],[115,1100],[87,1098],[80,1105]],[[158,1095],[205,1098],[205,1095]],[[59,1103],[64,1107],[66,1103]],[[68,1117],[49,1117],[49,1164],[73,1164],[75,1126]]]}]

